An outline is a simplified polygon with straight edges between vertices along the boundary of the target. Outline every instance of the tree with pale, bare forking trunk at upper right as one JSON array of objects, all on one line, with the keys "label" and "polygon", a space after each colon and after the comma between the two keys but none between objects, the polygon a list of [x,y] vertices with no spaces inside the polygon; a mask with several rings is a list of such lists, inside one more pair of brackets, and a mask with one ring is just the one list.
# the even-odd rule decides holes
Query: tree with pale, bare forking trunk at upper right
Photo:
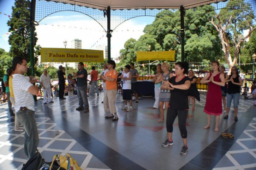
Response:
[{"label": "tree with pale, bare forking trunk at upper right", "polygon": [[[222,51],[230,69],[237,62],[243,42],[256,30],[253,25],[254,18],[250,3],[244,0],[229,0],[226,7],[210,20],[218,32]],[[245,36],[244,30],[249,30]],[[232,47],[234,52],[231,50]]]}]

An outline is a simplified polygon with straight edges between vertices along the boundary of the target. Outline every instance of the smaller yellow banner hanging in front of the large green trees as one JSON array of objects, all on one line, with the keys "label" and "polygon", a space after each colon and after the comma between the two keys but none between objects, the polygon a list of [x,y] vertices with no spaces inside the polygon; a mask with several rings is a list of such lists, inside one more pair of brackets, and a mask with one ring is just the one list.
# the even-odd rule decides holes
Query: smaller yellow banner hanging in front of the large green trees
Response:
[{"label": "smaller yellow banner hanging in front of the large green trees", "polygon": [[175,61],[175,51],[137,51],[136,61],[171,60]]}]

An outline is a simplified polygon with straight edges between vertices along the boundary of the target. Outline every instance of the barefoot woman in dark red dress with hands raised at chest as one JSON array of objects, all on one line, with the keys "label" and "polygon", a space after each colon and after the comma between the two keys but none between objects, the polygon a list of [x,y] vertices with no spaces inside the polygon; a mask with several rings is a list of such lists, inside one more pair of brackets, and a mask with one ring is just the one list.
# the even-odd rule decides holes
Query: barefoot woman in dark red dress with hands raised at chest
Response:
[{"label": "barefoot woman in dark red dress with hands raised at chest", "polygon": [[212,62],[212,71],[201,80],[201,83],[208,83],[208,91],[204,112],[207,113],[207,125],[204,129],[208,129],[211,124],[211,116],[215,115],[215,132],[218,132],[218,122],[222,114],[222,96],[221,86],[225,85],[224,74],[220,72],[220,63]]}]

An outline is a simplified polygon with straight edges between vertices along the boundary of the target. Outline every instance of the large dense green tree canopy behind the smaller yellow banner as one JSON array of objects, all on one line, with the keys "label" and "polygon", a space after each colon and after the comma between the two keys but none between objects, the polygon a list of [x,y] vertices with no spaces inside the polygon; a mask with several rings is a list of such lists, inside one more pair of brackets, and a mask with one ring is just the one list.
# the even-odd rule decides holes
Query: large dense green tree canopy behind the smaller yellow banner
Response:
[{"label": "large dense green tree canopy behind the smaller yellow banner", "polygon": [[[188,62],[202,61],[203,59],[218,60],[223,55],[221,43],[215,28],[209,20],[216,13],[210,5],[186,10],[185,56]],[[181,59],[180,45],[180,11],[163,10],[159,12],[152,24],[145,26],[139,40],[125,42],[124,49],[120,50],[121,62],[136,61],[136,51],[169,51],[175,50],[175,61]],[[151,61],[152,62],[152,61]],[[164,62],[164,61],[159,61]],[[146,61],[138,64],[148,63]],[[151,65],[151,70],[155,65]],[[148,67],[143,67],[148,72]]]}]

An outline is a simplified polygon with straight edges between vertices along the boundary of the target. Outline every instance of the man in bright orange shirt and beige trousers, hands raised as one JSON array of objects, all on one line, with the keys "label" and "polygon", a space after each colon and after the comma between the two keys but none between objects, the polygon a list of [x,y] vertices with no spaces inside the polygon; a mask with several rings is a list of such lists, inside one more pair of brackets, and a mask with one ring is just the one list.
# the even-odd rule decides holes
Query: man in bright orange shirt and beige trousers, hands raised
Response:
[{"label": "man in bright orange shirt and beige trousers, hands raised", "polygon": [[116,62],[113,60],[108,61],[108,72],[105,76],[101,75],[103,82],[106,82],[106,91],[104,94],[104,110],[105,112],[110,112],[108,116],[105,116],[106,119],[113,118],[112,121],[117,121],[118,116],[116,114],[116,80],[117,80],[117,71]]}]

